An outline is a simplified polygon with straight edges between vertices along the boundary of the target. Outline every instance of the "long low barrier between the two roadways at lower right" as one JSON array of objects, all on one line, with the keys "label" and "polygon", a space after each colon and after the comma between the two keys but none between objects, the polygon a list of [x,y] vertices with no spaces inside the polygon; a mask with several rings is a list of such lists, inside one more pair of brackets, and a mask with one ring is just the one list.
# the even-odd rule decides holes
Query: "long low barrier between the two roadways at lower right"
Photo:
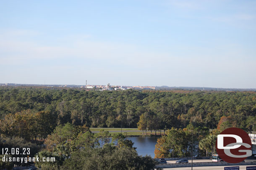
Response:
[{"label": "long low barrier between the two roadways at lower right", "polygon": [[[227,162],[195,162],[193,167],[204,167],[204,166],[234,166],[234,165],[256,165],[256,162],[240,162],[240,163],[227,163]],[[169,168],[169,167],[191,167],[191,163],[170,163],[170,164],[159,164],[156,167]]]}]

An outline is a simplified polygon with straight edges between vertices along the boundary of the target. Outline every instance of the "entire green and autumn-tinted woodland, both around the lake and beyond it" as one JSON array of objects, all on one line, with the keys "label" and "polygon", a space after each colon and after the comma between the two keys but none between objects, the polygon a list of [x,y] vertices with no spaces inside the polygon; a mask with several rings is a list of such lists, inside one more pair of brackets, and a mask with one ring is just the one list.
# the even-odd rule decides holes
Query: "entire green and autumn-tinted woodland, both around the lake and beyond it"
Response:
[{"label": "entire green and autumn-tinted woodland, both around the lake and beyond it", "polygon": [[[117,163],[124,170],[155,168],[152,158],[138,156],[123,134],[113,136],[115,142],[108,144],[107,131],[93,134],[89,127],[163,129],[166,135],[158,139],[155,157],[187,157],[192,150],[197,156],[209,156],[223,129],[239,127],[250,132],[255,122],[256,92],[0,87],[0,147],[25,146],[31,148],[31,155],[56,158],[52,163],[36,162],[42,170],[118,169]],[[212,127],[214,135],[209,131]],[[123,154],[130,156],[119,159]],[[84,160],[91,161],[76,163]],[[109,164],[101,164],[102,160]],[[94,167],[94,161],[99,167]],[[0,167],[8,169],[13,164]]]}]

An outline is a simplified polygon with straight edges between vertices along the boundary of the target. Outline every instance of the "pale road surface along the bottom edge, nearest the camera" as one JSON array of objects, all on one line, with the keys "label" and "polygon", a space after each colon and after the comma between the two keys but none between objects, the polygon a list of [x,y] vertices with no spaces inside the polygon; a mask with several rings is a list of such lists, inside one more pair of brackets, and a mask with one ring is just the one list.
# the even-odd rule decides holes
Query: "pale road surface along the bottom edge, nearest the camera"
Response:
[{"label": "pale road surface along the bottom edge, nearest the camera", "polygon": [[[240,165],[239,170],[246,170],[246,167],[252,167],[255,165]],[[224,170],[224,167],[229,166],[207,166],[207,167],[193,167],[193,170]],[[235,166],[230,166],[235,167]],[[164,168],[163,170],[191,170],[191,167],[171,167],[171,168]]]}]

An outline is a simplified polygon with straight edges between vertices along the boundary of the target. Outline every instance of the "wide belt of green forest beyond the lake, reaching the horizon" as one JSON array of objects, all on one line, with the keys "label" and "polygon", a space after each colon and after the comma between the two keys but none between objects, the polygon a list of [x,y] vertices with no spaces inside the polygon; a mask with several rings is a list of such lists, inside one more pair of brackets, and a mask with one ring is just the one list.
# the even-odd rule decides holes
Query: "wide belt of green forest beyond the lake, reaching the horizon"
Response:
[{"label": "wide belt of green forest beyond the lake, reaching the horizon", "polygon": [[251,130],[256,92],[0,88],[1,119],[28,109],[47,112],[52,126],[70,122],[87,127],[137,127],[141,118],[147,129],[184,128],[190,123],[210,128],[213,123],[216,128],[226,116],[235,127]]}]

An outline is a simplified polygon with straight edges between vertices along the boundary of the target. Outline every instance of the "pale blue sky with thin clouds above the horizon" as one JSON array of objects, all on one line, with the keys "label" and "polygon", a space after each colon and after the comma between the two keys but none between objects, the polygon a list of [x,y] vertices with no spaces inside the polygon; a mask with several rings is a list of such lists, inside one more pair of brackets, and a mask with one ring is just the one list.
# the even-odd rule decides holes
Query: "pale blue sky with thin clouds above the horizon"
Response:
[{"label": "pale blue sky with thin clouds above the horizon", "polygon": [[0,83],[256,88],[255,0],[9,0]]}]

